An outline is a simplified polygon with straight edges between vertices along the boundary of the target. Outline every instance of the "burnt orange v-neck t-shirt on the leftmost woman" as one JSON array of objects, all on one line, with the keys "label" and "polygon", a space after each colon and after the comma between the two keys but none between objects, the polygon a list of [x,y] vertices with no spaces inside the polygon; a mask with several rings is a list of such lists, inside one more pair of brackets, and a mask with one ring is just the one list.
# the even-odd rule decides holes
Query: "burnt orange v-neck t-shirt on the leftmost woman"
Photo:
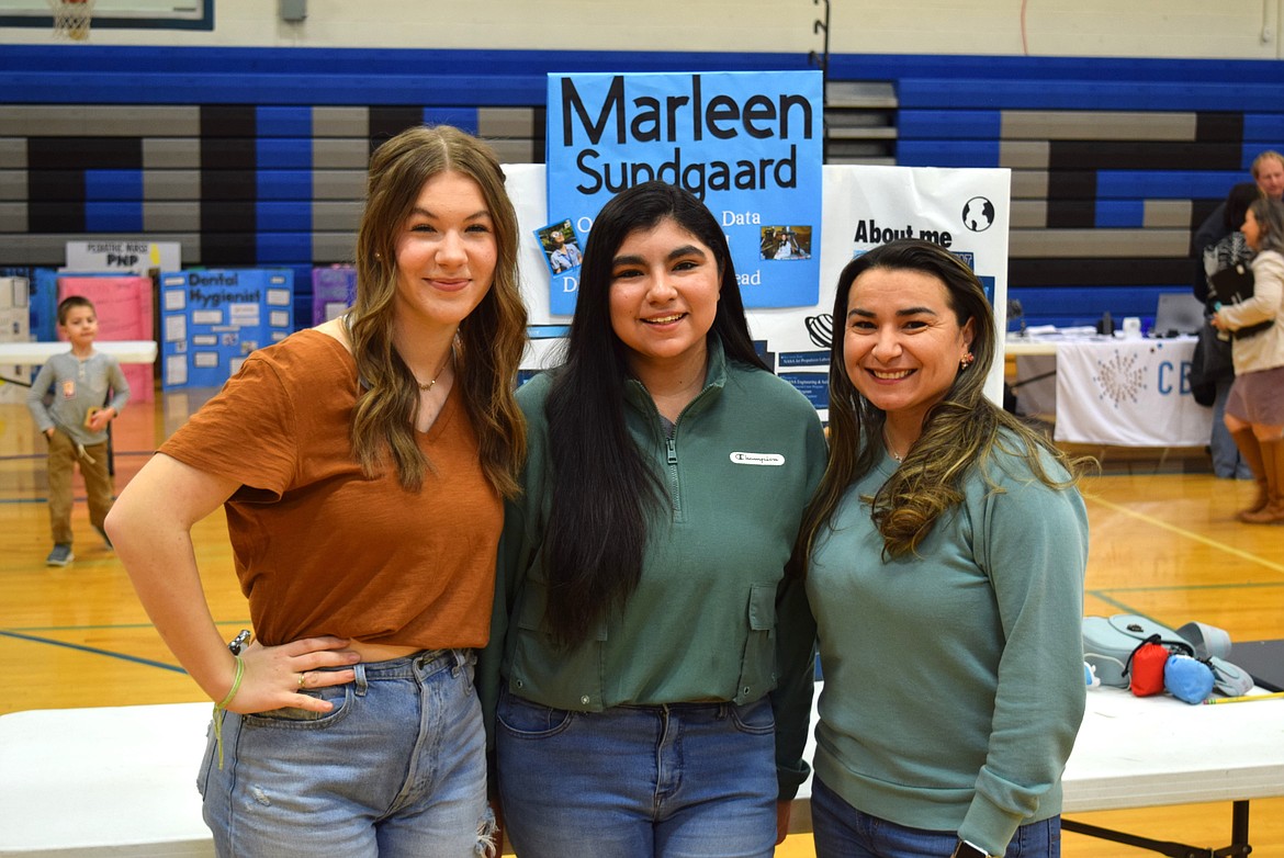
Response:
[{"label": "burnt orange v-neck t-shirt on the leftmost woman", "polygon": [[241,483],[227,530],[254,633],[265,645],[315,635],[421,649],[489,637],[503,507],[451,390],[419,446],[419,492],[390,465],[361,473],[349,426],[357,366],[313,330],[250,355],[160,447]]}]

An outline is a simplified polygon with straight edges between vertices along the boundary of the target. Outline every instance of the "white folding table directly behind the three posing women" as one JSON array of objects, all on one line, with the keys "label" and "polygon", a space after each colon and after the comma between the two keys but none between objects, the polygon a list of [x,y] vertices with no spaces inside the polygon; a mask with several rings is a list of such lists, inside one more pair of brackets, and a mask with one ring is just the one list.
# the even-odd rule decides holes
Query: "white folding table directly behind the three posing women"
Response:
[{"label": "white folding table directly behind the three posing women", "polygon": [[[211,709],[198,703],[0,717],[0,858],[213,855],[195,786]],[[809,759],[814,751],[809,739]],[[1089,690],[1066,768],[1067,814],[1233,801],[1233,837],[1247,845],[1248,803],[1279,795],[1284,699],[1192,706]],[[795,830],[810,828],[809,796],[810,781],[795,804]]]}]

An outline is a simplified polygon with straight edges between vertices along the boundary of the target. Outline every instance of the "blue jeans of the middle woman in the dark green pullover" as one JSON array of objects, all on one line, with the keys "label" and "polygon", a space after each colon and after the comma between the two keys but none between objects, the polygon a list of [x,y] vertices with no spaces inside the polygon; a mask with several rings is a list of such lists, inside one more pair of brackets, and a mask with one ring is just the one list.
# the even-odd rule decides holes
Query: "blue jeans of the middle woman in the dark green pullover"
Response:
[{"label": "blue jeans of the middle woman in the dark green pullover", "polygon": [[521,858],[770,858],[776,719],[764,697],[551,709],[505,691],[506,832]]}]

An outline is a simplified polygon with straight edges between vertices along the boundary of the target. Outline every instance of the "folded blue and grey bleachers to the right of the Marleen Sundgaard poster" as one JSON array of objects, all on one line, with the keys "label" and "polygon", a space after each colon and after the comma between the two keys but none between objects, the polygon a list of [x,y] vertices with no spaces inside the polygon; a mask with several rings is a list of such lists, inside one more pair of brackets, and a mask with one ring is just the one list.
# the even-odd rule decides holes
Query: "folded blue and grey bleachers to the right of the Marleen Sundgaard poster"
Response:
[{"label": "folded blue and grey bleachers to the right of the Marleen Sundgaard poster", "polygon": [[1276,63],[837,58],[896,81],[896,162],[1012,170],[1009,298],[1027,325],[1154,315],[1189,292],[1190,236],[1252,159],[1284,149]]}]

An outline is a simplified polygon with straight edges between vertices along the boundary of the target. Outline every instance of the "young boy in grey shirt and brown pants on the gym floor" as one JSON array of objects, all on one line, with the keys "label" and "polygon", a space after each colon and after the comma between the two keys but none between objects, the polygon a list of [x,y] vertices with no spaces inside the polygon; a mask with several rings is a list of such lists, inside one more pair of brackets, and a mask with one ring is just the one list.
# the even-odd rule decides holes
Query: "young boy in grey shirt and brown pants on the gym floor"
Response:
[{"label": "young boy in grey shirt and brown pants on the gym floor", "polygon": [[[54,550],[45,564],[65,566],[72,554],[72,470],[80,464],[89,495],[89,520],[112,547],[103,520],[112,509],[112,475],[107,466],[107,426],[130,398],[119,362],[94,351],[98,313],[89,298],[72,295],[58,304],[58,330],[72,351],[49,358],[36,375],[27,407],[49,439],[49,523]],[[108,402],[108,392],[112,399]],[[46,403],[46,397],[51,399]],[[103,403],[107,406],[103,407]]]}]

